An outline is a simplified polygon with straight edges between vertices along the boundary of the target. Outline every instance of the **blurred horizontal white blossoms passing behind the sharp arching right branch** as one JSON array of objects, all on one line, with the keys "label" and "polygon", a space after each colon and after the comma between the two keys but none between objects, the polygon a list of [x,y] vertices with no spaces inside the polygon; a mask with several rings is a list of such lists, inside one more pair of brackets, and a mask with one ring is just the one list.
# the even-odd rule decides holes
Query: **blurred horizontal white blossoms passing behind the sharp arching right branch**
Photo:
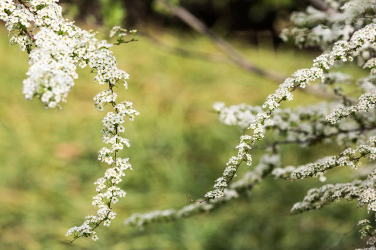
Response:
[{"label": "blurred horizontal white blossoms passing behind the sharp arching right branch", "polygon": [[[332,124],[327,122],[326,116],[338,108],[341,103],[318,103],[298,108],[276,108],[271,114],[270,123],[265,130],[273,132],[274,145],[299,144],[307,147],[317,142],[330,143],[336,141],[338,145],[351,145],[354,142],[366,142],[366,138],[375,131],[373,127],[364,124],[372,123],[375,114],[357,116]],[[246,129],[254,123],[260,106],[241,103],[226,106],[215,103],[215,110],[221,123]],[[334,140],[336,139],[336,140]]]}]

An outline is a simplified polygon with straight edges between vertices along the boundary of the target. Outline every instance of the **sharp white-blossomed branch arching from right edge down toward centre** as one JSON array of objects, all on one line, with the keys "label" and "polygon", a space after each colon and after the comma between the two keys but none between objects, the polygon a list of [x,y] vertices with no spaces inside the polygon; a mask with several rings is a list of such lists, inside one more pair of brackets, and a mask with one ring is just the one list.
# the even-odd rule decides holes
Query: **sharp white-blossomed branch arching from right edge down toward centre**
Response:
[{"label": "sharp white-blossomed branch arching from right edge down toward centre", "polygon": [[227,167],[224,170],[222,177],[219,177],[215,181],[214,189],[207,192],[206,200],[218,199],[223,196],[223,190],[232,181],[232,178],[237,173],[242,162],[246,162],[247,165],[252,164],[252,156],[250,155],[250,149],[256,144],[256,142],[263,140],[265,136],[265,124],[271,123],[271,114],[278,108],[282,101],[293,99],[293,90],[296,88],[306,88],[310,82],[316,79],[324,79],[324,70],[329,70],[336,61],[347,62],[352,60],[354,53],[362,49],[364,46],[368,46],[370,43],[374,43],[376,40],[376,25],[370,24],[366,27],[359,29],[353,34],[349,42],[339,41],[336,42],[332,51],[329,53],[323,53],[314,60],[312,68],[305,68],[296,71],[291,78],[287,78],[286,81],[280,85],[280,88],[276,90],[273,95],[267,97],[267,101],[262,105],[264,112],[259,113],[256,116],[255,122],[252,123],[249,129],[252,129],[252,135],[245,134],[241,136],[240,143],[237,146],[238,153],[232,156],[228,160]]}]

